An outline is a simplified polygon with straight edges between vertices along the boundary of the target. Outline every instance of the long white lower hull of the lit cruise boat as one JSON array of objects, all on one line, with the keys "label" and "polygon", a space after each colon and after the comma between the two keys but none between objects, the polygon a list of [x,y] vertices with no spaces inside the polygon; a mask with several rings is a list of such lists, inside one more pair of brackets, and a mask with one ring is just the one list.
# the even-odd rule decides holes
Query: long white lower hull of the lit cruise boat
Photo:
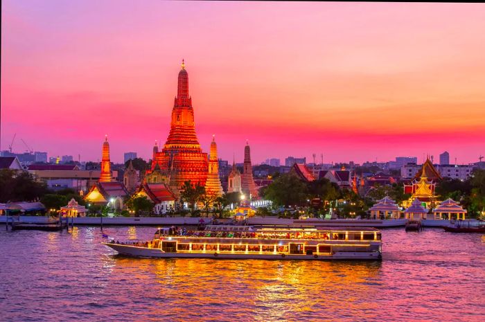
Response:
[{"label": "long white lower hull of the lit cruise boat", "polygon": [[146,247],[135,247],[124,244],[114,244],[104,242],[118,253],[125,256],[141,258],[214,258],[214,259],[263,259],[263,260],[382,260],[382,256],[377,251],[369,252],[350,252],[335,251],[334,253],[303,255],[288,253],[254,254],[254,253],[220,253],[220,252],[177,252],[166,253],[161,249],[150,249]]}]

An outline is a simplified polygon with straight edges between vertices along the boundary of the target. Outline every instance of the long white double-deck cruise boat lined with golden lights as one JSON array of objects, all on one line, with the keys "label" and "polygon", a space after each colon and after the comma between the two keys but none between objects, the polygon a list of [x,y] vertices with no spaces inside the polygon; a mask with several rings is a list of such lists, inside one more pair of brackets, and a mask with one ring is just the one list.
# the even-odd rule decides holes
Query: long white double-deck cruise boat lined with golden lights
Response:
[{"label": "long white double-deck cruise boat lined with golden lights", "polygon": [[143,258],[382,259],[380,231],[361,227],[158,229],[147,242],[111,240],[103,244],[123,255]]}]

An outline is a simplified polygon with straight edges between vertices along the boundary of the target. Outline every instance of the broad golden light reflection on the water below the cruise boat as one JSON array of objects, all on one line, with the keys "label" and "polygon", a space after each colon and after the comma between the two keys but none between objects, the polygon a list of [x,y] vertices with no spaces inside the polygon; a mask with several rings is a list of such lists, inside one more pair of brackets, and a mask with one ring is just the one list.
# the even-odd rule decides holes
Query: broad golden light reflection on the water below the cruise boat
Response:
[{"label": "broad golden light reflection on the water below the cruise boat", "polygon": [[116,267],[154,283],[152,293],[161,302],[152,314],[170,301],[171,314],[182,320],[204,305],[214,321],[225,314],[247,321],[249,305],[254,307],[250,321],[296,321],[331,306],[375,312],[376,305],[360,299],[376,292],[367,282],[376,278],[380,263],[118,258]]}]

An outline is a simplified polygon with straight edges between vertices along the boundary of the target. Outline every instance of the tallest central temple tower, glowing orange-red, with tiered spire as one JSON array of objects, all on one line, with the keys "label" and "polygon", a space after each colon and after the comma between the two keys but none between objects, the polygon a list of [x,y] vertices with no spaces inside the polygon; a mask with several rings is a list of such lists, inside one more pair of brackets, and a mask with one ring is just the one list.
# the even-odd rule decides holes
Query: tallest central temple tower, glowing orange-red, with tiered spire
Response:
[{"label": "tallest central temple tower, glowing orange-red, with tiered spire", "polygon": [[153,152],[152,168],[147,171],[150,183],[168,183],[177,197],[185,181],[205,186],[209,162],[195,134],[192,98],[188,94],[188,73],[182,61],[177,97],[172,109],[170,133],[164,147]]}]

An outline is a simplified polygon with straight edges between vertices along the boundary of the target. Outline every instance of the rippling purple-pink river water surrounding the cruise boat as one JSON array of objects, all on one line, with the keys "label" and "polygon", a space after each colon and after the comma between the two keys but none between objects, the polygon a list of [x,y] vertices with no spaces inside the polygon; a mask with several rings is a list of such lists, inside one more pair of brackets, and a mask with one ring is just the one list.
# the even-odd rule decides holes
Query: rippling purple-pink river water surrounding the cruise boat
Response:
[{"label": "rippling purple-pink river water surrounding the cruise boat", "polygon": [[485,321],[480,234],[387,229],[382,262],[325,262],[125,258],[99,227],[1,228],[0,321]]}]

